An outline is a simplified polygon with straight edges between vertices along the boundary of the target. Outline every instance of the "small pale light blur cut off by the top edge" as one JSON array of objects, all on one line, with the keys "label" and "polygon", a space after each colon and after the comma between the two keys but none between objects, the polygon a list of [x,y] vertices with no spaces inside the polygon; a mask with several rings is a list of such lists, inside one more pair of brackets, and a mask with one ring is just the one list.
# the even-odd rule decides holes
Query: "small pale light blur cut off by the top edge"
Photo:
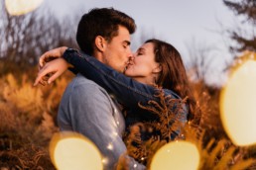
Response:
[{"label": "small pale light blur cut off by the top edge", "polygon": [[5,7],[10,15],[18,16],[37,9],[43,0],[5,0]]}]

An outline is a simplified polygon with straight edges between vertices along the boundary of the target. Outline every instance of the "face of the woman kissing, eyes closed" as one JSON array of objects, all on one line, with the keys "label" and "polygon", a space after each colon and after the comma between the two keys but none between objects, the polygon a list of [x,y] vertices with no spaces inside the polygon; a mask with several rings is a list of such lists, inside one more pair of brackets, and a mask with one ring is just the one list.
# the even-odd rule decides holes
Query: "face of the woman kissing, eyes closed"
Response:
[{"label": "face of the woman kissing, eyes closed", "polygon": [[144,43],[133,56],[134,59],[127,66],[125,75],[142,83],[154,83],[160,72],[159,63],[155,61],[154,43]]}]

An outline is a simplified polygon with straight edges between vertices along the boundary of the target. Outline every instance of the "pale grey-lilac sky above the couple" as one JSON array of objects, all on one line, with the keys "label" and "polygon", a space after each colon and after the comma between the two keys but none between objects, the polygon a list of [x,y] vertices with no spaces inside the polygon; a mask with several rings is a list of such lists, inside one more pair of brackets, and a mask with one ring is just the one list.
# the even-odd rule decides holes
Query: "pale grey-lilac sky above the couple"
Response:
[{"label": "pale grey-lilac sky above the couple", "polygon": [[[134,38],[143,33],[171,42],[182,53],[185,63],[189,61],[188,48],[194,43],[217,48],[214,54],[218,59],[212,62],[218,62],[218,67],[230,57],[228,42],[220,34],[220,23],[231,26],[234,16],[222,0],[46,0],[45,3],[58,16],[82,14],[94,7],[123,11],[136,21],[138,30]],[[215,78],[219,76],[217,69],[222,68],[212,70]]]}]

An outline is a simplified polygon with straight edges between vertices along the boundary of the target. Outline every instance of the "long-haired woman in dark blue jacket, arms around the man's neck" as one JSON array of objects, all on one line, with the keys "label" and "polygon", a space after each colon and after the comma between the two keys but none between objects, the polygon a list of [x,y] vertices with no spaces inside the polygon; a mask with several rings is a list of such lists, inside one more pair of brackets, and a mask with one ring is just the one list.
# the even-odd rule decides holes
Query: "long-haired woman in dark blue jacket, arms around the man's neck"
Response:
[{"label": "long-haired woman in dark blue jacket, arms around the man's neck", "polygon": [[[50,51],[47,55],[43,55],[41,64],[49,56],[56,55],[60,57],[63,54],[65,61],[68,61],[69,64],[63,58],[47,63],[40,71],[36,83],[42,81],[42,78],[48,73],[54,73],[49,79],[49,82],[52,82],[67,67],[72,67],[75,72],[80,72],[88,79],[95,81],[105,88],[108,92],[113,93],[117,100],[125,108],[128,108],[125,114],[126,127],[133,127],[139,124],[140,130],[145,129],[147,131],[145,133],[139,132],[142,140],[147,140],[152,136],[160,136],[162,139],[167,140],[174,139],[179,134],[183,123],[188,120],[194,120],[195,101],[192,96],[186,69],[179,51],[170,43],[159,40],[146,41],[136,51],[134,59],[127,65],[124,73],[128,77],[117,73],[95,58],[88,57],[76,50],[65,52],[60,50],[59,52],[56,54]],[[171,118],[176,120],[170,120],[167,125],[170,126],[171,124],[172,126],[175,121],[180,121],[181,124],[178,128],[172,128],[172,131],[168,133],[169,136],[163,134],[158,127],[155,127],[156,129],[153,132],[152,130],[150,132],[147,130],[147,127],[148,129],[154,128],[151,123],[163,121],[160,118],[162,116],[156,114],[157,110],[152,110],[152,107],[148,106],[149,101],[163,102],[161,98],[155,96],[158,89],[155,85],[163,88],[162,93],[165,96],[169,95],[171,99],[182,100],[187,98],[186,105],[182,104],[180,110],[176,110],[177,112],[174,112],[174,110],[178,107],[179,102],[172,105],[171,114],[175,114],[175,116]],[[162,112],[162,114],[164,113]],[[177,117],[178,115],[179,117]],[[143,123],[143,125],[141,126],[140,123]],[[138,145],[136,142],[133,143]],[[144,153],[140,154],[137,158],[141,159],[142,155]]]}]

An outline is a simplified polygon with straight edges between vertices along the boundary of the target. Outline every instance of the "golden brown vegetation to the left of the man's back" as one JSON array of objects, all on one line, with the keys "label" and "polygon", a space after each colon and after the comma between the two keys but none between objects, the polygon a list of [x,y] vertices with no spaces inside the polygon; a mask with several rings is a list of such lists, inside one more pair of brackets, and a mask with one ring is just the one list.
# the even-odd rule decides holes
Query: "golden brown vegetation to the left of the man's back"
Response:
[{"label": "golden brown vegetation to the left of the man's back", "polygon": [[0,168],[55,169],[48,145],[58,130],[58,106],[69,78],[33,87],[36,69],[28,74],[18,69],[0,78]]}]

